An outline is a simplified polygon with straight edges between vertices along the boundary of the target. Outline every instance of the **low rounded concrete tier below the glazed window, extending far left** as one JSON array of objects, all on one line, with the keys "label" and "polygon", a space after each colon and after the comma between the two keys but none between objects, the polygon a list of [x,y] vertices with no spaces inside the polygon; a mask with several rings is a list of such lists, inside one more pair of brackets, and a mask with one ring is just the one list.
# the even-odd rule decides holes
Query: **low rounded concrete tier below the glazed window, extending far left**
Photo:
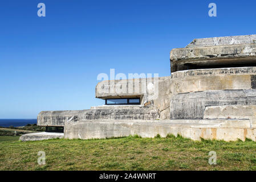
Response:
[{"label": "low rounded concrete tier below the glazed window, extending far left", "polygon": [[90,109],[73,111],[42,111],[38,114],[38,126],[64,126],[67,121],[81,119],[146,119],[160,118],[157,109]]}]

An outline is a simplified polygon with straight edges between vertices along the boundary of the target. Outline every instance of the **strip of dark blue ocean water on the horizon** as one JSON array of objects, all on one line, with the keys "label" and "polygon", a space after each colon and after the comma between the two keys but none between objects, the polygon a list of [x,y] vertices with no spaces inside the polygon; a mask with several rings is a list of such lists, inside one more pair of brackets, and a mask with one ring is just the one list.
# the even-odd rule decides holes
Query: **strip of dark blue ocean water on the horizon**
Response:
[{"label": "strip of dark blue ocean water on the horizon", "polygon": [[0,119],[0,126],[2,127],[18,127],[26,126],[27,124],[35,124],[36,119]]}]

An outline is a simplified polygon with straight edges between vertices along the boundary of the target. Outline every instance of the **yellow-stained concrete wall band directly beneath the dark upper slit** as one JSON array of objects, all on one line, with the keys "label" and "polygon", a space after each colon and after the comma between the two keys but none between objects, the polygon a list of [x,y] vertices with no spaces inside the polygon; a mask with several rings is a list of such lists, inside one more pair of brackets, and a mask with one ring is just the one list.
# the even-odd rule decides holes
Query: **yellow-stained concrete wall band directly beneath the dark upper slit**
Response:
[{"label": "yellow-stained concrete wall band directly beneath the dark upper slit", "polygon": [[256,88],[256,67],[186,70],[172,73],[172,94]]}]

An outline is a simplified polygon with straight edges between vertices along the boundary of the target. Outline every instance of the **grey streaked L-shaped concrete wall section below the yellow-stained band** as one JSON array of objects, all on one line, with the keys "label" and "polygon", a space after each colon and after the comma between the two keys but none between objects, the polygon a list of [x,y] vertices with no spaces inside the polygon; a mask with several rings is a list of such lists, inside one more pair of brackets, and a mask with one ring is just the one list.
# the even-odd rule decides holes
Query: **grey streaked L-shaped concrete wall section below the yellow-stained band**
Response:
[{"label": "grey streaked L-shaped concrete wall section below the yellow-stained band", "polygon": [[202,119],[205,107],[256,105],[256,90],[215,90],[177,94],[170,99],[171,119]]}]

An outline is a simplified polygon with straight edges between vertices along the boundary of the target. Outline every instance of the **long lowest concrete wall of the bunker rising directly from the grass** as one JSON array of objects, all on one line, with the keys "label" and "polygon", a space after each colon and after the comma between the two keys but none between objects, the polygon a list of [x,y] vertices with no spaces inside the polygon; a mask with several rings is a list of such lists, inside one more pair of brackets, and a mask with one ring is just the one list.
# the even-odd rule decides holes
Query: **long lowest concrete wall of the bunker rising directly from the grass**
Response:
[{"label": "long lowest concrete wall of the bunker rising directly from the grass", "polygon": [[255,140],[256,130],[250,127],[248,119],[201,119],[201,120],[165,120],[165,121],[79,121],[67,122],[64,138],[91,139],[127,137],[155,137],[160,134],[180,134],[193,140],[217,139],[234,141],[250,138]]}]

